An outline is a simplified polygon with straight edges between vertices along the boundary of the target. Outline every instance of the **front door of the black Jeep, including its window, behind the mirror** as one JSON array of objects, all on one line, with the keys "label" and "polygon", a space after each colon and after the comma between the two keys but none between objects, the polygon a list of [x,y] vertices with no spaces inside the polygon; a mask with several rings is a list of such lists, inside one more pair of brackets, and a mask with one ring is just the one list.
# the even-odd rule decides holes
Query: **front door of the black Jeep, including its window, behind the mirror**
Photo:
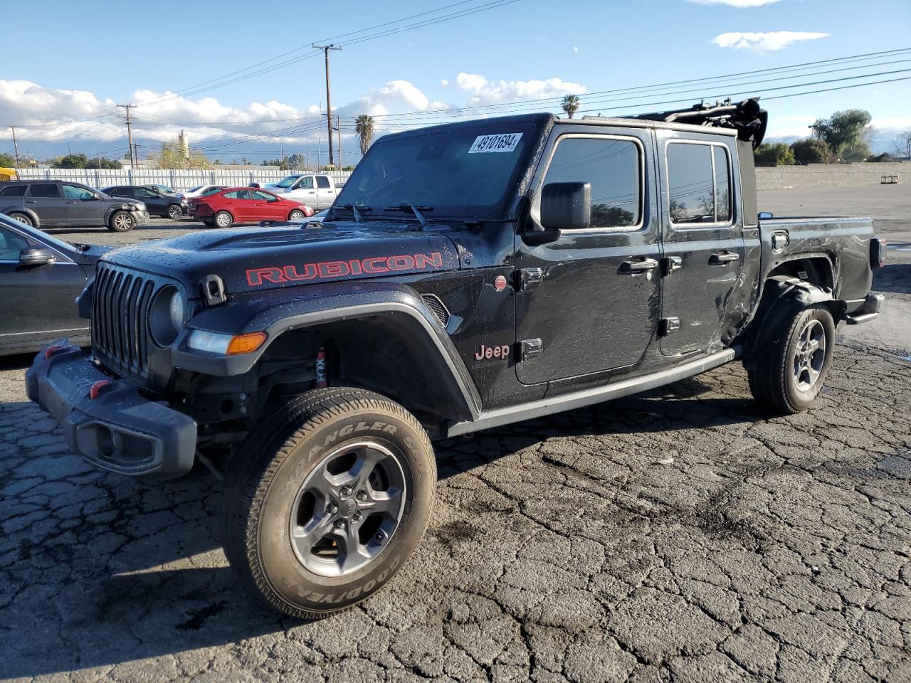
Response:
[{"label": "front door of the black Jeep, including its window, behind the mirror", "polygon": [[[562,127],[561,127],[562,128]],[[660,247],[649,130],[566,127],[545,151],[533,221],[551,182],[591,184],[591,224],[529,245],[517,236],[519,361],[525,384],[637,365],[654,339]]]}]

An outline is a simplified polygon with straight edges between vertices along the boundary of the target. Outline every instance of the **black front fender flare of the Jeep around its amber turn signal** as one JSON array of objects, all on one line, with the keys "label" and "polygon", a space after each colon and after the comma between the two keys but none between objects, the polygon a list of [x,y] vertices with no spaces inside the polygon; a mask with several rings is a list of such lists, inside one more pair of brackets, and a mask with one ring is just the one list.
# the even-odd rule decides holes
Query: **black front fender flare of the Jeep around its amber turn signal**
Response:
[{"label": "black front fender flare of the Jeep around its amber turn signal", "polygon": [[[238,296],[193,317],[171,347],[171,362],[174,367],[191,372],[220,377],[241,375],[249,372],[271,342],[284,332],[374,316],[396,316],[400,324],[415,332],[412,338],[433,359],[445,384],[441,390],[458,403],[455,413],[462,419],[476,419],[480,394],[455,344],[420,295],[393,282],[363,282],[356,286],[351,282],[327,282]],[[187,342],[193,330],[223,334],[265,331],[268,337],[255,352],[222,356],[190,349]]]}]

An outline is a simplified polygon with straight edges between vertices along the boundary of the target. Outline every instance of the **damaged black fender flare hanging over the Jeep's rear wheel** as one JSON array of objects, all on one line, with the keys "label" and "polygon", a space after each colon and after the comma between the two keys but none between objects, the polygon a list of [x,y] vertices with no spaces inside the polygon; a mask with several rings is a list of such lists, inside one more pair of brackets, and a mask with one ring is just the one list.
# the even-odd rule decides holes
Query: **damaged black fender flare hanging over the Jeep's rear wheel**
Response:
[{"label": "damaged black fender flare hanging over the Jeep's rear wheel", "polygon": [[782,335],[787,331],[784,322],[798,311],[818,303],[830,304],[836,322],[841,317],[841,311],[835,311],[834,307],[840,307],[844,311],[844,301],[835,299],[831,291],[809,282],[784,277],[767,280],[762,301],[747,328],[743,364],[748,368],[754,367],[773,344],[781,341]]}]

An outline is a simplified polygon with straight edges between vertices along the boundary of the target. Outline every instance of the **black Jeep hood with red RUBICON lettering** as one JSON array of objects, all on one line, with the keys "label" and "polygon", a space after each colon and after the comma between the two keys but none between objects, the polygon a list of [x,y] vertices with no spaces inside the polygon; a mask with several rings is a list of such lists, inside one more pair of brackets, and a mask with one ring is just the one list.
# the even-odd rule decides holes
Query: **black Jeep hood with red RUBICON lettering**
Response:
[{"label": "black Jeep hood with red RUBICON lettering", "polygon": [[108,251],[101,261],[179,280],[192,298],[207,275],[232,294],[459,268],[445,235],[379,221],[200,230]]}]

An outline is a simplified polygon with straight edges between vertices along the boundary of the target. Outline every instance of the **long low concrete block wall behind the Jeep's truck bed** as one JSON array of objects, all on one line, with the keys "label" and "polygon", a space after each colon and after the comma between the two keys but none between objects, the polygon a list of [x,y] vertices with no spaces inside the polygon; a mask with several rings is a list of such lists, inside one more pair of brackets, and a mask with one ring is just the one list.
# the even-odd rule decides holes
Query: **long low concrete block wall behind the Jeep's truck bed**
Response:
[{"label": "long low concrete block wall behind the Jeep's truck bed", "polygon": [[810,164],[756,168],[756,189],[842,188],[879,185],[885,175],[911,182],[911,164]]}]

